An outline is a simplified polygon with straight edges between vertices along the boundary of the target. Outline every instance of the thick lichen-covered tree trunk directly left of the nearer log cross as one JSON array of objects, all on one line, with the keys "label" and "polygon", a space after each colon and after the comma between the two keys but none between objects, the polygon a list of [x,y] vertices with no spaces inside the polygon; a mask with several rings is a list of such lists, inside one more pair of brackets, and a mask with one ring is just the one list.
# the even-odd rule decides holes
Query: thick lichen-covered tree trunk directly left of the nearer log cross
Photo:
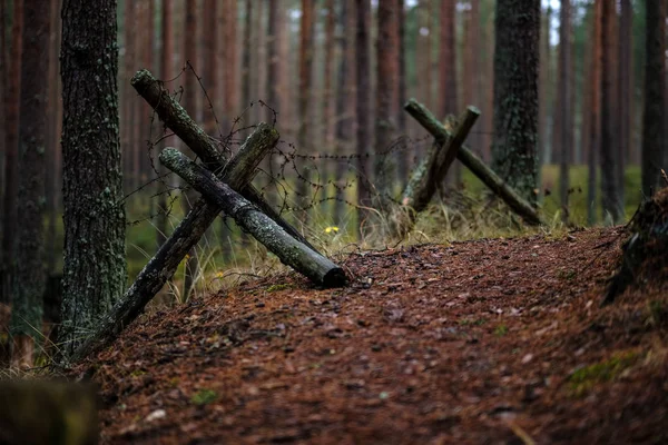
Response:
[{"label": "thick lichen-covered tree trunk directly left of the nearer log cross", "polygon": [[90,0],[63,0],[65,266],[59,339],[66,356],[120,299],[126,280],[116,36],[116,0],[96,0],[95,7]]}]

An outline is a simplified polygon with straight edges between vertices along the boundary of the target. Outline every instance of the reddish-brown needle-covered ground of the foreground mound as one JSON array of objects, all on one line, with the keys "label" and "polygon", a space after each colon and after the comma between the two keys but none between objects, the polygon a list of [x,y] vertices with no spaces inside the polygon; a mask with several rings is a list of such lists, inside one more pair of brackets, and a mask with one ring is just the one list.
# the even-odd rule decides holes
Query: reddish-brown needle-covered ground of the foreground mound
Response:
[{"label": "reddish-brown needle-covered ground of the foreground mound", "polygon": [[622,228],[360,251],[145,315],[81,364],[102,443],[668,443],[668,286]]}]

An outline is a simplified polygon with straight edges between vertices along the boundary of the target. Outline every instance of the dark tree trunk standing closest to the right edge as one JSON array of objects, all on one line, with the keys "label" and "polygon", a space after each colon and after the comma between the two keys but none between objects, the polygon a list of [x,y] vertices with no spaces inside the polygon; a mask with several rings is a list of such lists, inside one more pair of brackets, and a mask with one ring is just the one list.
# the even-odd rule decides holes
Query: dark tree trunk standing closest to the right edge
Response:
[{"label": "dark tree trunk standing closest to the right edge", "polygon": [[662,0],[646,0],[645,110],[642,113],[642,194],[651,196],[661,184],[666,149],[666,24]]}]

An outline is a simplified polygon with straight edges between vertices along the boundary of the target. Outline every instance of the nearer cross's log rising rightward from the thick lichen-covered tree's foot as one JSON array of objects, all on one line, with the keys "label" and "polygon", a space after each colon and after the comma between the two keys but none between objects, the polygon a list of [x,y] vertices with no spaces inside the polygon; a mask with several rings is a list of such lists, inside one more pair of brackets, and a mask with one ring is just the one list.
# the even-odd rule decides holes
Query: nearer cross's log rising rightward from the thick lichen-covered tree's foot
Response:
[{"label": "nearer cross's log rising rightward from the thick lichen-covered tree's foot", "polygon": [[[261,123],[246,139],[238,154],[228,162],[220,175],[233,188],[243,188],[253,180],[259,161],[278,142],[278,131]],[[148,301],[165,286],[176,271],[179,263],[197,245],[206,229],[216,219],[220,208],[198,199],[188,215],[176,227],[171,236],[160,246],[156,255],[141,269],[137,279],[101,322],[100,327],[81,345],[71,357],[78,362],[95,350],[108,345],[143,312]]]}]

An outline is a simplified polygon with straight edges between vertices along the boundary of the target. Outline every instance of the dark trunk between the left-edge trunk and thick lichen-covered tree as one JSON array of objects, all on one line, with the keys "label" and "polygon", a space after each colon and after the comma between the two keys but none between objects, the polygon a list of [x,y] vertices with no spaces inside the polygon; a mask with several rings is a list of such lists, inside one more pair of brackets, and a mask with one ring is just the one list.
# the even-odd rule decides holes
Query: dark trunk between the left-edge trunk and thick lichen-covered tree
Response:
[{"label": "dark trunk between the left-edge trunk and thick lichen-covered tree", "polygon": [[[19,195],[16,250],[12,273],[12,336],[42,338],[42,294],[45,287],[43,212],[45,212],[45,145],[47,142],[48,76],[43,61],[49,59],[50,4],[42,0],[26,0],[21,55],[21,117],[19,128]],[[29,344],[30,342],[27,342]],[[17,342],[14,345],[21,345]],[[14,348],[12,356],[22,355]],[[29,347],[32,352],[32,347]],[[28,363],[12,362],[19,366]],[[20,357],[23,358],[23,357]]]}]

